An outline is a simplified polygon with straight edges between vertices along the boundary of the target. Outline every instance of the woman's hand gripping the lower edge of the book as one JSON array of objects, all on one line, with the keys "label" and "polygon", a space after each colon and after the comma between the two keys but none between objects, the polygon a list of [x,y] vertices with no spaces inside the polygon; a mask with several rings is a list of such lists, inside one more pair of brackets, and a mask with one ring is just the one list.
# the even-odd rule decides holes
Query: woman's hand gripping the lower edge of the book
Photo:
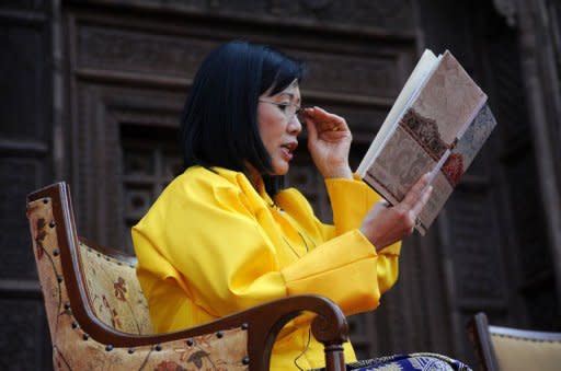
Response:
[{"label": "woman's hand gripping the lower edge of the book", "polygon": [[388,202],[380,201],[368,211],[360,232],[377,252],[413,233],[415,220],[433,190],[427,186],[428,177],[428,173],[421,176],[401,202],[388,207]]}]

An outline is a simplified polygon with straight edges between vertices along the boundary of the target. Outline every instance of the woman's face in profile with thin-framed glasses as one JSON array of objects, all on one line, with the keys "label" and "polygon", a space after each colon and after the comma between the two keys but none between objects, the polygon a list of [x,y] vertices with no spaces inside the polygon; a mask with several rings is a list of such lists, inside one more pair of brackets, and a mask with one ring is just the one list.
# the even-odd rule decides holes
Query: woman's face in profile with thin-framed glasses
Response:
[{"label": "woman's face in profile with thin-framed glasses", "polygon": [[300,89],[293,82],[284,91],[259,97],[257,123],[261,140],[271,156],[272,175],[285,175],[298,147],[302,126],[295,113],[300,107]]}]

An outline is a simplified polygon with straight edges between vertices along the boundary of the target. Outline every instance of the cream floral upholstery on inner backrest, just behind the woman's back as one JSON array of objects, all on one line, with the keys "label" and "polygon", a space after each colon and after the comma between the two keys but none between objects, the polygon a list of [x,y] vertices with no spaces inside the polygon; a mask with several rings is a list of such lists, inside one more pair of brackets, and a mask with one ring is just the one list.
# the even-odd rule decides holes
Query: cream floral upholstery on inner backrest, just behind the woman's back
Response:
[{"label": "cream floral upholstery on inner backrest, just behind the woman's back", "polygon": [[83,243],[79,247],[82,281],[93,313],[106,325],[129,334],[152,334],[148,304],[135,267],[103,255]]}]

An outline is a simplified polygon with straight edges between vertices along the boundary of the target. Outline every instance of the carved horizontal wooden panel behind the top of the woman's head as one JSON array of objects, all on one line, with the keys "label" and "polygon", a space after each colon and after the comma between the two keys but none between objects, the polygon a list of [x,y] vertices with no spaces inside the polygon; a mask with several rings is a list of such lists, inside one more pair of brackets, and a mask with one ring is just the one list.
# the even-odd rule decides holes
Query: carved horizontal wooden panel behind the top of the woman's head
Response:
[{"label": "carved horizontal wooden panel behind the top of the woman's head", "polygon": [[[305,84],[307,90],[391,98],[399,93],[405,78],[403,62],[413,61],[409,47],[393,47],[376,54],[357,45],[347,56],[342,56],[339,48],[329,46],[324,46],[323,51],[305,51],[311,43],[312,38],[309,38],[299,47],[284,48],[311,67]],[[204,56],[216,45],[215,40],[195,36],[170,36],[85,23],[78,27],[76,67],[106,70],[111,66],[112,71],[178,77],[188,81]]]}]

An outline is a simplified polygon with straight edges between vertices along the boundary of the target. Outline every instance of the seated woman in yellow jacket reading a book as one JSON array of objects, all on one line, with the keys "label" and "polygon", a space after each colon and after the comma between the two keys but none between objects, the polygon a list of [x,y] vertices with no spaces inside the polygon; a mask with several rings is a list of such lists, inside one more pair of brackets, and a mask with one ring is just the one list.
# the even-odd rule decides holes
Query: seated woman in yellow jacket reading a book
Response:
[{"label": "seated woman in yellow jacket reading a book", "polygon": [[[133,229],[138,277],[158,332],[195,326],[286,295],[316,293],[347,314],[373,310],[398,277],[431,187],[422,177],[387,207],[348,166],[345,120],[301,109],[302,65],[261,45],[232,42],[198,70],[185,104],[178,176]],[[296,189],[280,189],[298,135],[325,178],[334,225]],[[355,360],[350,344],[345,359]],[[323,366],[309,322],[275,343],[273,370]]]}]

